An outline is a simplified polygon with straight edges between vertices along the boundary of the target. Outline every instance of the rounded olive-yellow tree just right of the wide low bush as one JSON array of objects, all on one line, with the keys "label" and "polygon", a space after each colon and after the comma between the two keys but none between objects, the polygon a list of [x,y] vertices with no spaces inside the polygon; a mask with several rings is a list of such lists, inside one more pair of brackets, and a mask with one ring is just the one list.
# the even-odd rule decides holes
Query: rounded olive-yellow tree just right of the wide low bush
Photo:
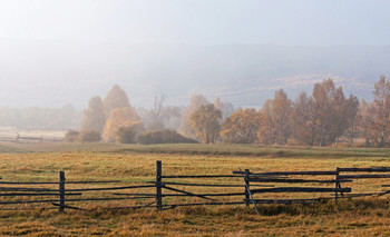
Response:
[{"label": "rounded olive-yellow tree just right of the wide low bush", "polygon": [[204,144],[216,142],[221,130],[220,119],[222,119],[222,112],[213,103],[201,106],[189,117],[191,127]]}]

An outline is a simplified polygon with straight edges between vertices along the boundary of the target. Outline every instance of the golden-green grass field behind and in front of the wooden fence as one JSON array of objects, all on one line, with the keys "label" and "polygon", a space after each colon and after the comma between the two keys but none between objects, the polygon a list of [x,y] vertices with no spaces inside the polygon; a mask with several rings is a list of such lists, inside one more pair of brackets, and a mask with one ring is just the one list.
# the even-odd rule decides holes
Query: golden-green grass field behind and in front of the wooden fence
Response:
[{"label": "golden-green grass field behind and in front of the wooden fence", "polygon": [[[10,181],[154,180],[155,162],[164,175],[230,175],[254,171],[334,170],[335,167],[390,166],[389,149],[264,147],[256,145],[0,144],[0,175]],[[187,180],[192,181],[192,180]],[[214,181],[214,180],[205,180]],[[220,179],[220,184],[232,180]],[[387,182],[386,182],[387,181]],[[237,180],[240,182],[240,180]],[[381,191],[380,182],[359,180],[357,191]],[[189,189],[186,189],[189,190]],[[194,189],[192,189],[194,190]],[[198,187],[195,191],[202,192]],[[178,201],[178,200],[175,200]],[[137,200],[128,204],[136,205]],[[28,236],[389,236],[390,196],[342,199],[318,205],[201,206],[165,211],[111,210],[123,203],[90,203],[94,211],[0,211],[0,235]]]}]

